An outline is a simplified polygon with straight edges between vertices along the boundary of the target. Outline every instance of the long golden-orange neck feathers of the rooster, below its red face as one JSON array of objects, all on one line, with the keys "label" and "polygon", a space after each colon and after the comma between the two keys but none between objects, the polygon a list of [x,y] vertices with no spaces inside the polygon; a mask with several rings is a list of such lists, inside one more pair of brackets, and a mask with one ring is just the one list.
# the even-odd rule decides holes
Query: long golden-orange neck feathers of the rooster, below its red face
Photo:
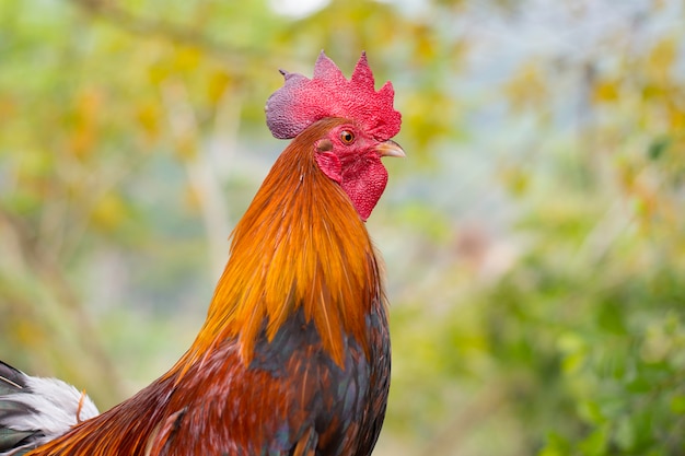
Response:
[{"label": "long golden-orange neck feathers of the rooster, below its red face", "polygon": [[313,156],[314,142],[334,125],[313,125],[275,163],[232,234],[229,262],[186,356],[237,338],[249,363],[257,337],[266,329],[271,340],[300,307],[336,363],[344,334],[368,349],[365,317],[382,305],[373,246],[347,195]]}]

